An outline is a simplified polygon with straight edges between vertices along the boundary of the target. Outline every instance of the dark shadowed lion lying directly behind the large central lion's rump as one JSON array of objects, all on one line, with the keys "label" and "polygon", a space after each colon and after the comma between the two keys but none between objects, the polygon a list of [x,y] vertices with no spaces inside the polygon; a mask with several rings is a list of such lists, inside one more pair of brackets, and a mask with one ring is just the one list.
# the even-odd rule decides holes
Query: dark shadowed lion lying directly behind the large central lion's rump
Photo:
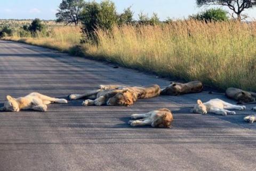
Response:
[{"label": "dark shadowed lion lying directly behind the large central lion's rump", "polygon": [[186,93],[197,93],[203,90],[201,81],[191,81],[188,83],[171,82],[170,86],[162,89],[161,95],[183,95]]}]

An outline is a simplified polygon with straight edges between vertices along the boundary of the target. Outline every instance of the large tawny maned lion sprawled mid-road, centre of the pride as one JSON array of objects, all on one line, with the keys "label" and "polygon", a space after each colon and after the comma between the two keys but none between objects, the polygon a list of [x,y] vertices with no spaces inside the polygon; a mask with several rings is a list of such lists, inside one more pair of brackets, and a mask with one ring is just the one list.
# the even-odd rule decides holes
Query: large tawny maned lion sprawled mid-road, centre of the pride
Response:
[{"label": "large tawny maned lion sprawled mid-road, centre of the pride", "polygon": [[87,91],[82,95],[69,95],[69,99],[88,98],[83,101],[83,106],[131,106],[137,99],[156,97],[159,96],[161,92],[158,85],[150,87],[100,85],[99,88],[98,90]]}]

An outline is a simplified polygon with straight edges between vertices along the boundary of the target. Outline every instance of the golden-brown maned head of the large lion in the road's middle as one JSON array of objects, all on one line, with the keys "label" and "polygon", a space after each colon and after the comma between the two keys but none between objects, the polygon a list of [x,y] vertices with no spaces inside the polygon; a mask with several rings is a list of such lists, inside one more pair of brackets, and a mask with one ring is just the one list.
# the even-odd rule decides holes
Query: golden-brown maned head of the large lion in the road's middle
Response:
[{"label": "golden-brown maned head of the large lion in the road's middle", "polygon": [[117,93],[107,101],[108,106],[131,106],[133,104],[133,95],[128,90]]}]

